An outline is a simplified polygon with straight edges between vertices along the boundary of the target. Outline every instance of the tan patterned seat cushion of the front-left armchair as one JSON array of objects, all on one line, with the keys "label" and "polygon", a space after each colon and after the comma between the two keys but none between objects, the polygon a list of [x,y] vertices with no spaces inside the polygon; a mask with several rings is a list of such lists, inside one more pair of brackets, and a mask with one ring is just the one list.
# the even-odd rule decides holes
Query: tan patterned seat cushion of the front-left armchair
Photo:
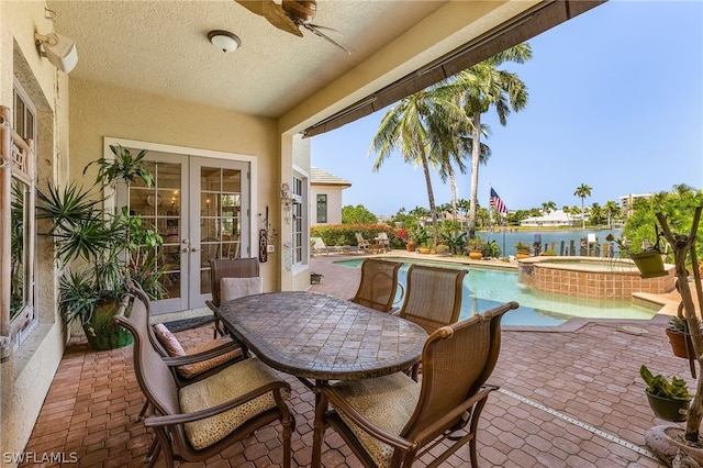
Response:
[{"label": "tan patterned seat cushion of the front-left armchair", "polygon": [[[276,372],[252,357],[232,365],[212,377],[197,381],[179,390],[183,413],[205,410],[239,398],[269,382],[278,382]],[[252,417],[276,408],[274,392],[248,400],[239,406],[216,416],[186,423],[186,437],[200,450],[221,441]]]}]

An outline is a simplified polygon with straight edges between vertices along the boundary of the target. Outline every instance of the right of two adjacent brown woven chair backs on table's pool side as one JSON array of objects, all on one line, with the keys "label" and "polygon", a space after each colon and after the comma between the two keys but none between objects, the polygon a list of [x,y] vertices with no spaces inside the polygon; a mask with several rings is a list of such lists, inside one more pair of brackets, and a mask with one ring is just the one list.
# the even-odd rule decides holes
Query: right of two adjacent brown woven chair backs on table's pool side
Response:
[{"label": "right of two adjacent brown woven chair backs on table's pool side", "polygon": [[468,270],[412,265],[408,269],[405,302],[399,315],[432,333],[459,320],[464,277]]}]

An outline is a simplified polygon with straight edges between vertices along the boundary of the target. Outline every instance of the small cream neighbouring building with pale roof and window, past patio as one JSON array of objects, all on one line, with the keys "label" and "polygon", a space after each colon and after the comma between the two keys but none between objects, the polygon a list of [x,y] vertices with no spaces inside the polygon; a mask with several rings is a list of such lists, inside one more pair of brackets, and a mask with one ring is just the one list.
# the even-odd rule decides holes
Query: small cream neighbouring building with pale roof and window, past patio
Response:
[{"label": "small cream neighbouring building with pale roof and window, past patio", "polygon": [[342,224],[342,190],[352,182],[333,174],[310,168],[310,225]]}]

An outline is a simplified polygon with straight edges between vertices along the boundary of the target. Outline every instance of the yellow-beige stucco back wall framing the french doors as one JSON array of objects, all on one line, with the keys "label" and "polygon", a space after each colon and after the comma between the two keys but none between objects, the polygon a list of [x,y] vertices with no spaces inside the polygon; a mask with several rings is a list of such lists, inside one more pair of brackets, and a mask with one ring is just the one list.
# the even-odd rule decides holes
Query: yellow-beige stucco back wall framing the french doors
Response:
[{"label": "yellow-beige stucco back wall framing the french doors", "polygon": [[[250,155],[257,158],[258,170],[252,182],[257,196],[252,222],[256,225],[257,213],[268,205],[276,227],[280,207],[276,121],[81,80],[71,81],[70,102],[71,178],[81,177],[88,163],[102,157],[104,136]],[[257,239],[252,243],[256,247]],[[274,254],[261,264],[266,290],[278,289],[277,260]]]}]

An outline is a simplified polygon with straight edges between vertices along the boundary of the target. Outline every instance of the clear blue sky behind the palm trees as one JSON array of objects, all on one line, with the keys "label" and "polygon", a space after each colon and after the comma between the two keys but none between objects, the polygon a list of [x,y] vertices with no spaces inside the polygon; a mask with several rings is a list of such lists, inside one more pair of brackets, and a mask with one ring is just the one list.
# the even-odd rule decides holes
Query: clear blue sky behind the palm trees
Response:
[{"label": "clear blue sky behind the palm trees", "polygon": [[[492,149],[479,168],[479,203],[489,190],[509,210],[618,201],[627,193],[703,188],[703,2],[611,0],[529,40],[533,58],[505,66],[526,83],[527,107],[502,126],[483,122]],[[344,205],[377,215],[428,207],[422,168],[400,155],[378,172],[369,156],[386,110],[313,137],[312,165],[349,180]],[[470,165],[469,165],[470,167]],[[459,198],[470,197],[459,175]],[[436,203],[450,190],[433,177]]]}]

